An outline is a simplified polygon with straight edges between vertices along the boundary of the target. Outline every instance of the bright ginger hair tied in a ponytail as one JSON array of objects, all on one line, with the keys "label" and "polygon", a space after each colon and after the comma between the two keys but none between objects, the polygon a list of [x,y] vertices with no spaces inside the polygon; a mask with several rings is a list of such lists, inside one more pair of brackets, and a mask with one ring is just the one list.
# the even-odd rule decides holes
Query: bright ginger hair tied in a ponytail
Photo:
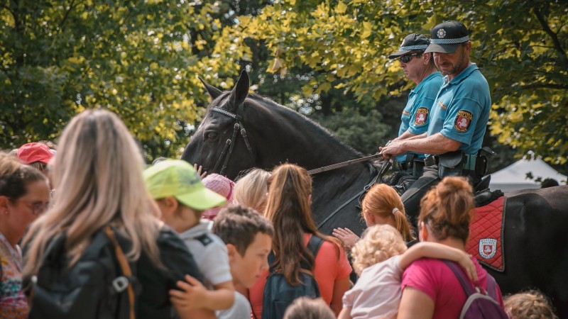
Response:
[{"label": "bright ginger hair tied in a ponytail", "polygon": [[383,219],[394,220],[395,228],[403,235],[405,242],[415,240],[413,227],[406,216],[403,201],[398,193],[386,184],[376,184],[363,198],[361,203],[365,213],[380,216]]}]

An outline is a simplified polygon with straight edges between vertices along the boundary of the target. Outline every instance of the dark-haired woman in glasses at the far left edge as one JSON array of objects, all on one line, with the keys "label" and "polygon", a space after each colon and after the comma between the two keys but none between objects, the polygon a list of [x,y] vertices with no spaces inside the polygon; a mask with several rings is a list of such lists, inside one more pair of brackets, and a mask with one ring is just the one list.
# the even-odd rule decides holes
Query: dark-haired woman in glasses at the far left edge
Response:
[{"label": "dark-haired woman in glasses at the far left edge", "polygon": [[0,152],[0,318],[28,318],[18,242],[28,225],[48,208],[49,201],[47,177]]}]

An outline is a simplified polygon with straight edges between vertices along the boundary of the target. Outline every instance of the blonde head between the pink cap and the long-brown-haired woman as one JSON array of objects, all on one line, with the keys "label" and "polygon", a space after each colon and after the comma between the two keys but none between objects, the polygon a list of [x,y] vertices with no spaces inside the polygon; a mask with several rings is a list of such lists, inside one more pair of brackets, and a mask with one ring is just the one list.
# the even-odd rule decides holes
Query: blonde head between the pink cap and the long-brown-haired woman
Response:
[{"label": "blonde head between the pink cap and the long-brown-haired woman", "polygon": [[234,201],[263,213],[268,195],[268,178],[271,173],[264,169],[252,169],[248,174],[237,179],[234,189]]}]

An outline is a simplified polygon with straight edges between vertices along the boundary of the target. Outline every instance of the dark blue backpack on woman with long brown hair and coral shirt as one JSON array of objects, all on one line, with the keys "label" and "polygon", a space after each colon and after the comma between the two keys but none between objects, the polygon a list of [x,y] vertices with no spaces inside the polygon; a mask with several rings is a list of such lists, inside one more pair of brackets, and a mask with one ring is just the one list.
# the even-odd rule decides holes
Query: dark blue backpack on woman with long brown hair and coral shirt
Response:
[{"label": "dark blue backpack on woman with long brown hair and coral shirt", "polygon": [[[312,235],[310,241],[307,242],[307,249],[312,252],[314,258],[317,255],[317,251],[320,250],[323,241],[322,238]],[[268,255],[268,264],[272,264],[273,261],[274,254],[271,252]],[[283,274],[274,272],[272,268],[270,269],[270,274],[264,286],[262,319],[283,318],[286,308],[290,306],[290,303],[292,303],[295,298],[302,296],[310,298],[320,297],[320,288],[317,286],[317,281],[312,274],[312,269],[304,262],[302,262],[301,267],[302,269],[310,271],[310,273],[300,272],[302,284],[297,286],[290,286]]]}]

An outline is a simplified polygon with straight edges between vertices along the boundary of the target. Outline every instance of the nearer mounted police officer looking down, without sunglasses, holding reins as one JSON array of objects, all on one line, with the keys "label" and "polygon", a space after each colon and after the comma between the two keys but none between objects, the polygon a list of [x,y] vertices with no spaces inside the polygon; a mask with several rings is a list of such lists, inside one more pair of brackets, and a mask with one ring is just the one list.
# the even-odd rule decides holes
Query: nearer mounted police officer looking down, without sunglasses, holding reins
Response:
[{"label": "nearer mounted police officer looking down, without sunglasses, holding reins", "polygon": [[487,81],[469,61],[471,42],[466,26],[445,21],[432,28],[430,35],[425,53],[433,53],[444,78],[432,105],[427,133],[380,147],[384,157],[405,152],[427,155],[424,174],[402,196],[405,210],[413,216],[420,198],[440,178],[466,175],[479,179],[482,175],[476,170],[476,157],[491,109]]}]

